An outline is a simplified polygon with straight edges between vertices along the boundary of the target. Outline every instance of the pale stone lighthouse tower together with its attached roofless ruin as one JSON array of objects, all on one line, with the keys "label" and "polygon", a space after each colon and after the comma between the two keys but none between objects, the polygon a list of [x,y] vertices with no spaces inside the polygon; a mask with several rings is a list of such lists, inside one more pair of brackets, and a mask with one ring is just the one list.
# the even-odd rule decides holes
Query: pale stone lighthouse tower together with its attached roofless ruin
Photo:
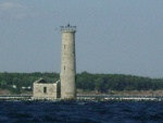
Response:
[{"label": "pale stone lighthouse tower together with its attached roofless ruin", "polygon": [[76,26],[61,26],[61,73],[60,81],[48,83],[40,78],[34,83],[34,99],[76,99]]}]

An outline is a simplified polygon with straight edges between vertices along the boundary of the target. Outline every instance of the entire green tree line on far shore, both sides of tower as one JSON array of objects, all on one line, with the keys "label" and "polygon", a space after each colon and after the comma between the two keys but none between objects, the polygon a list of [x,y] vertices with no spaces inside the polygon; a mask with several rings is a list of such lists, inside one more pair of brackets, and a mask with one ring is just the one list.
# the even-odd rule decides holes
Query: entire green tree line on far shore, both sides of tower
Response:
[{"label": "entire green tree line on far shore, both sides of tower", "polygon": [[[33,87],[33,83],[40,77],[48,82],[57,82],[59,73],[0,73],[0,88],[13,91],[13,85],[17,93],[22,87]],[[156,90],[163,89],[163,78],[150,78],[124,74],[91,74],[82,72],[76,75],[78,89],[97,90],[108,93],[110,90]]]}]

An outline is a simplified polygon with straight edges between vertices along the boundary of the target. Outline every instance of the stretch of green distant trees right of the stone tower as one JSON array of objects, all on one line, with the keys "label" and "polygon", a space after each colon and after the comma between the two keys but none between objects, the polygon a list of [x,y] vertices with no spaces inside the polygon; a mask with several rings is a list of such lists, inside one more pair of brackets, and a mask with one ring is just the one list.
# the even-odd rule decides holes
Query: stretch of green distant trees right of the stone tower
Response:
[{"label": "stretch of green distant trees right of the stone tower", "polygon": [[150,78],[124,74],[77,74],[77,88],[108,93],[110,90],[163,89],[163,78]]}]

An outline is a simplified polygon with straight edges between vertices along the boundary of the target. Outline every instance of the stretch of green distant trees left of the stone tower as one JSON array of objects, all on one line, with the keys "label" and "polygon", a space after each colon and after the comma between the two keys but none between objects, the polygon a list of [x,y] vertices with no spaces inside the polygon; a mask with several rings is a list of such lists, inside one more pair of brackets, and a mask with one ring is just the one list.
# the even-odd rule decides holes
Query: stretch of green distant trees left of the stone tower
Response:
[{"label": "stretch of green distant trees left of the stone tower", "polygon": [[[9,89],[12,93],[20,94],[23,88],[32,88],[33,83],[40,77],[48,82],[57,82],[59,79],[58,73],[0,73],[0,88]],[[32,90],[29,89],[29,90]]]}]

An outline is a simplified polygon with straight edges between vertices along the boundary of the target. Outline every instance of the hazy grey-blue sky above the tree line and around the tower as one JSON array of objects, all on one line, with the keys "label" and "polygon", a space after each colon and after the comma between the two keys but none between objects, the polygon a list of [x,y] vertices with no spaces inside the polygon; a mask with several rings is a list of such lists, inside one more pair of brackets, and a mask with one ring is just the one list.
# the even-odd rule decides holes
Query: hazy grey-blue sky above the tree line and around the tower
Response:
[{"label": "hazy grey-blue sky above the tree line and around the tower", "polygon": [[0,0],[0,72],[60,73],[67,23],[77,73],[163,78],[163,0]]}]

